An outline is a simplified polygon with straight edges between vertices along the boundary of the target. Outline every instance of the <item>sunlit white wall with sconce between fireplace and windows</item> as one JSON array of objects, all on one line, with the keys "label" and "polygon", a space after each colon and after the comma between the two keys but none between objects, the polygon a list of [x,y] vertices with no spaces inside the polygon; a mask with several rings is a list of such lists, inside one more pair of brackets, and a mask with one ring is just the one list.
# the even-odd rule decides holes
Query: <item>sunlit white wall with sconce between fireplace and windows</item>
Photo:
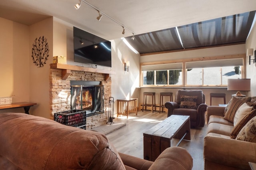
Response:
[{"label": "sunlit white wall with sconce between fireplace and windows", "polygon": [[[114,101],[124,98],[140,98],[140,55],[127,47],[122,39],[111,41],[112,69],[111,93]],[[130,61],[128,72],[124,71],[124,62]],[[115,102],[115,107],[117,108]],[[116,113],[116,111],[114,111]]]}]

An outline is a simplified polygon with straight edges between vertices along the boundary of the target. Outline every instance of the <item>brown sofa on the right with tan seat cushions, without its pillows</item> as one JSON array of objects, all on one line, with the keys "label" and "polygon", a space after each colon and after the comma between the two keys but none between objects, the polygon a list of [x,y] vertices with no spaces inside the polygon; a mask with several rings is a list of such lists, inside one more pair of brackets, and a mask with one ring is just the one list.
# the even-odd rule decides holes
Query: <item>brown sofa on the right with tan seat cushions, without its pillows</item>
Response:
[{"label": "brown sofa on the right with tan seat cushions, without its pillows", "polygon": [[[256,108],[256,97],[250,98],[250,102],[246,103]],[[256,143],[230,138],[231,134],[234,134],[234,123],[224,119],[224,113],[227,113],[225,109],[218,106],[207,107],[208,127],[204,138],[204,168],[206,170],[250,170],[248,162],[256,162]],[[250,116],[255,116],[255,111],[251,112],[254,115]]]}]

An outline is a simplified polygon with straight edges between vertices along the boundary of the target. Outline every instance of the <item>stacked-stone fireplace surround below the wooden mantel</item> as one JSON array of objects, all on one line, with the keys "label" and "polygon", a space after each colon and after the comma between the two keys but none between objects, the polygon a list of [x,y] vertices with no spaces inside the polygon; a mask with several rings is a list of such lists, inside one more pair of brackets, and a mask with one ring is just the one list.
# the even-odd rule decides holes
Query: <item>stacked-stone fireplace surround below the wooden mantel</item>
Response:
[{"label": "stacked-stone fireplace surround below the wooden mantel", "polygon": [[[70,74],[68,74],[66,78],[63,78],[63,70],[54,69],[51,66],[49,78],[50,115],[52,119],[54,119],[54,113],[56,112],[74,109],[74,107],[71,107],[71,82],[73,83],[88,81],[98,82],[99,85],[93,86],[101,86],[102,92],[104,92],[102,94],[104,94],[104,96],[102,98],[102,106],[100,106],[100,109],[102,110],[97,108],[100,111],[97,111],[95,114],[91,114],[90,116],[86,117],[86,129],[92,129],[93,127],[98,127],[100,125],[106,124],[106,122],[108,121],[108,99],[109,97],[111,97],[111,77],[108,77],[106,80],[106,75],[104,73],[70,70]],[[91,92],[92,91],[93,90],[91,90]],[[89,112],[91,113],[92,111],[88,111],[88,113]]]}]

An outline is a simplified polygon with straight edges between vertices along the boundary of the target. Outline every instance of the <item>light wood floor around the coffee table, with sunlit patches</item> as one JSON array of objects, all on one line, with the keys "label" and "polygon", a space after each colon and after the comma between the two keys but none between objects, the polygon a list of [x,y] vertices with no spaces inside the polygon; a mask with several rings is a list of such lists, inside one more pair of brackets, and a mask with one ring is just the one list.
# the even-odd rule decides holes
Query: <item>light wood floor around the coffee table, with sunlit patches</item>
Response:
[{"label": "light wood floor around the coffee table, with sunlit patches", "polygon": [[[143,159],[143,133],[167,117],[167,113],[152,113],[151,111],[138,111],[126,116],[116,117],[114,123],[126,122],[126,126],[107,134],[118,152],[136,156]],[[202,128],[191,129],[191,140],[182,141],[179,147],[185,148],[193,158],[193,170],[204,170],[203,147],[206,135],[206,125]],[[176,146],[178,139],[172,139],[171,146]]]}]

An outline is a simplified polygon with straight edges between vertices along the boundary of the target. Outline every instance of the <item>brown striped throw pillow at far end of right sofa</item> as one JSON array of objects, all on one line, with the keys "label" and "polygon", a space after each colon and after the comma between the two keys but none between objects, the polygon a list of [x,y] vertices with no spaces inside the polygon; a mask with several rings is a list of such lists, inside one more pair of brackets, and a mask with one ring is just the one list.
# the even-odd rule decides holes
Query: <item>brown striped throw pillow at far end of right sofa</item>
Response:
[{"label": "brown striped throw pillow at far end of right sofa", "polygon": [[244,100],[240,100],[238,98],[232,98],[232,101],[230,103],[230,108],[228,109],[228,111],[226,112],[226,114],[224,115],[224,119],[227,121],[230,121],[232,123],[234,123],[234,117],[236,115],[236,111],[238,110],[238,108],[244,103]]}]

